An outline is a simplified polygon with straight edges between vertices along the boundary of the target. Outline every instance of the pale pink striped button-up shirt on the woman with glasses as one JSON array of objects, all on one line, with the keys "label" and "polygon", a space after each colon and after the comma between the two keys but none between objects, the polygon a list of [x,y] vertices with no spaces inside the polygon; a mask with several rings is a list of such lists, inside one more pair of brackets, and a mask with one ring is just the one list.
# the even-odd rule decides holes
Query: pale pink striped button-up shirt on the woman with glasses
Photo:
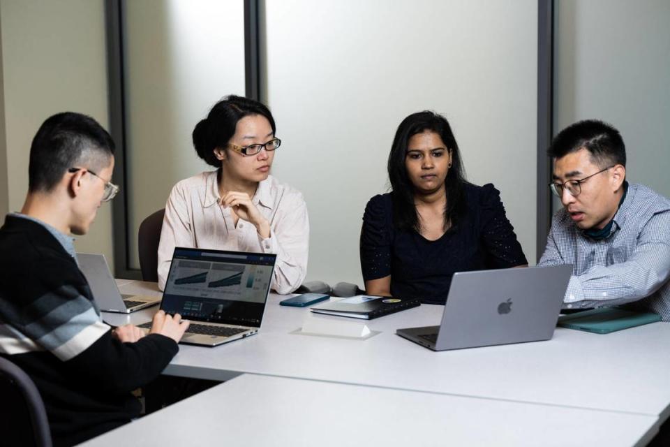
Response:
[{"label": "pale pink striped button-up shirt on the woman with glasses", "polygon": [[302,194],[271,175],[258,184],[251,201],[270,223],[270,237],[263,239],[253,223],[239,218],[233,224],[230,207],[221,205],[217,173],[201,173],[172,188],[158,246],[158,286],[165,288],[174,247],[198,247],[276,254],[271,287],[277,293],[295,291],[307,271],[309,220]]}]

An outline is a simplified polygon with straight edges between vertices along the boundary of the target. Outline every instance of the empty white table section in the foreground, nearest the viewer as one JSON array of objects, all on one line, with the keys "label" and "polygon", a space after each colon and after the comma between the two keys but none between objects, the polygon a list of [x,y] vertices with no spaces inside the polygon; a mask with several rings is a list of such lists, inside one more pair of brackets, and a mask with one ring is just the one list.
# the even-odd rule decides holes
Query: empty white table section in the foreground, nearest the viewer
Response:
[{"label": "empty white table section in the foreground, nearest the viewer", "polygon": [[653,416],[244,374],[83,446],[643,446]]}]

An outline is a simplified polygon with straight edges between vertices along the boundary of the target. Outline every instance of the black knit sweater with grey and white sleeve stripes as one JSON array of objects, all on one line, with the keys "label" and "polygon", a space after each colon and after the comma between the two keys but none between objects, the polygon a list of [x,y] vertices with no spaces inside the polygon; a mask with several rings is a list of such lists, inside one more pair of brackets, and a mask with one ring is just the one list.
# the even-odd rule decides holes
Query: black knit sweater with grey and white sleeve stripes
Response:
[{"label": "black knit sweater with grey and white sleeve stripes", "polygon": [[139,415],[131,390],[177,353],[163,335],[121,343],[103,323],[75,260],[40,223],[0,228],[0,356],[24,369],[45,402],[56,445],[78,444]]}]

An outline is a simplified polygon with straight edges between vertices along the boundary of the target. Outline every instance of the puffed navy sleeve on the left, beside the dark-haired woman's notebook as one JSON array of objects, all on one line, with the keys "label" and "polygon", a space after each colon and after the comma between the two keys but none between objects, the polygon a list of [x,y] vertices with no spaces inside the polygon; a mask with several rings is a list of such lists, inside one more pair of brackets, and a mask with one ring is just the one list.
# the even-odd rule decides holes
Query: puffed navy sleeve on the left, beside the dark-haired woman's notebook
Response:
[{"label": "puffed navy sleeve on the left, beside the dark-haired woman's notebook", "polygon": [[390,213],[384,196],[374,196],[365,207],[361,230],[363,279],[379,279],[391,274]]}]

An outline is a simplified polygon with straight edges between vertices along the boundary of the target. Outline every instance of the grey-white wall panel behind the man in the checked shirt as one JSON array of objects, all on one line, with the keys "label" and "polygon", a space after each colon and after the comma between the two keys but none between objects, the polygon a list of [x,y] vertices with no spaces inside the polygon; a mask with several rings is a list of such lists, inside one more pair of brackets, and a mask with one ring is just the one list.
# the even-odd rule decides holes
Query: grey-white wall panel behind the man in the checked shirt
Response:
[{"label": "grey-white wall panel behind the man in the checked shirt", "polygon": [[629,181],[670,196],[670,1],[560,0],[556,20],[556,131],[613,124]]}]

